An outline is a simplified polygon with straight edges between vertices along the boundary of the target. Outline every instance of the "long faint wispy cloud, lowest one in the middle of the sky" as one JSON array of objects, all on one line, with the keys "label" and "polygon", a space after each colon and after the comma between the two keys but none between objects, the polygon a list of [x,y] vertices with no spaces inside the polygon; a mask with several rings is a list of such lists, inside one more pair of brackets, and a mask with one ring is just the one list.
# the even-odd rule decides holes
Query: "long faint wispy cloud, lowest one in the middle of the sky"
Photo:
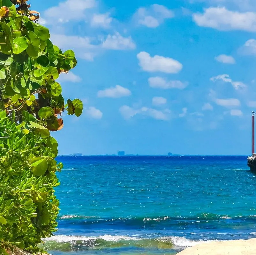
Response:
[{"label": "long faint wispy cloud, lowest one in the middle of the sky", "polygon": [[125,119],[130,119],[131,117],[134,117],[137,114],[141,114],[144,116],[149,116],[157,120],[169,120],[170,119],[170,113],[171,111],[169,109],[165,109],[163,111],[156,110],[153,108],[148,108],[148,107],[142,107],[139,109],[132,108],[128,105],[123,105],[119,109],[121,115]]}]

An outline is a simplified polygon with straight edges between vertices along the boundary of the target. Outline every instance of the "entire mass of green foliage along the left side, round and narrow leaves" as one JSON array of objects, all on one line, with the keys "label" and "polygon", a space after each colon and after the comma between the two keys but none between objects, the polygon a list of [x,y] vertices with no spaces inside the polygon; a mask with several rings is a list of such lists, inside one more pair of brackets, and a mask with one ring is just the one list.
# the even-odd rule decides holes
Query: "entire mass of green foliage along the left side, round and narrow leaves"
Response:
[{"label": "entire mass of green foliage along the left side, round and narrow leaves", "polygon": [[[16,6],[15,6],[16,5]],[[77,65],[50,41],[27,0],[0,0],[0,253],[16,245],[37,251],[57,226],[57,142],[62,112],[82,114],[79,99],[64,103],[56,81]],[[34,21],[34,22],[33,22]]]}]

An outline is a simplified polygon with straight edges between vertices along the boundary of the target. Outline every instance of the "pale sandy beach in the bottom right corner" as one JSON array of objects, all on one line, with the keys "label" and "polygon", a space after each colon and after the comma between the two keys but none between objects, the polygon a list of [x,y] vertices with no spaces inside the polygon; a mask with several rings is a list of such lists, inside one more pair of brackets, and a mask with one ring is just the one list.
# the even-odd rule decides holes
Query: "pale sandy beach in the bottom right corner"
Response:
[{"label": "pale sandy beach in the bottom right corner", "polygon": [[189,247],[177,255],[255,255],[256,238],[249,240],[212,241]]}]

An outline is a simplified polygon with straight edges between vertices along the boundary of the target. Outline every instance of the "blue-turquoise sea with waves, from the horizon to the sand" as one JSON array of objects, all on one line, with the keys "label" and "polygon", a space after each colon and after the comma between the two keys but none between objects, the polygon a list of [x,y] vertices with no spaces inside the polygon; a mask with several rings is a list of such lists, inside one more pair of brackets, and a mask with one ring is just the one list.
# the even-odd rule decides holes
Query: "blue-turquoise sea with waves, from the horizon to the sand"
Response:
[{"label": "blue-turquoise sea with waves, from the horizon to the sand", "polygon": [[58,157],[53,255],[176,254],[256,237],[256,176],[245,156]]}]

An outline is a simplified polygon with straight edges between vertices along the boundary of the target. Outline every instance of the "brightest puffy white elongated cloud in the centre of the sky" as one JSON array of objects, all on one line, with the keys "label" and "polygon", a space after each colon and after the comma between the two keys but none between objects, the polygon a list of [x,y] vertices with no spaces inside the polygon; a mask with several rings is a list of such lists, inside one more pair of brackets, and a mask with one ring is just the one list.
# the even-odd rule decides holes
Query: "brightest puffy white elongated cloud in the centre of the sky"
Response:
[{"label": "brightest puffy white elongated cloud in the centre of the sky", "polygon": [[151,57],[147,52],[137,54],[139,66],[147,72],[163,72],[176,74],[182,69],[182,64],[172,58],[155,55]]}]

